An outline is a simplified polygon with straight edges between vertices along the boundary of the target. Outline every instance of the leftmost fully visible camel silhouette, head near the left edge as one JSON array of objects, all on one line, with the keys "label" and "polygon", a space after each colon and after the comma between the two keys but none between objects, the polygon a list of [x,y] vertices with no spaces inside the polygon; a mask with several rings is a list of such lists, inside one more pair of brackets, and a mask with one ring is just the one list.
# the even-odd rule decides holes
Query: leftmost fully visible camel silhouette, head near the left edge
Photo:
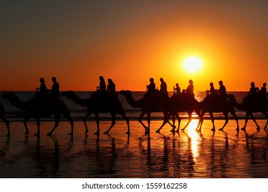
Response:
[{"label": "leftmost fully visible camel silhouette, head near the left edge", "polygon": [[8,99],[13,106],[16,108],[19,108],[21,110],[27,110],[27,117],[24,119],[23,123],[25,125],[25,134],[28,134],[28,128],[27,128],[27,121],[30,119],[30,117],[34,117],[36,119],[36,125],[37,125],[37,132],[36,136],[40,135],[40,117],[42,116],[49,116],[54,115],[55,116],[55,125],[51,132],[47,133],[47,135],[51,135],[52,132],[58,127],[58,122],[60,121],[60,115],[63,115],[65,118],[68,119],[69,123],[71,124],[71,132],[69,135],[73,134],[73,125],[74,121],[70,117],[70,112],[67,106],[63,103],[63,101],[54,101],[45,104],[41,104],[42,102],[35,97],[33,99],[30,99],[29,101],[20,101],[18,97],[13,92],[10,93],[4,93],[2,95],[2,98]]}]

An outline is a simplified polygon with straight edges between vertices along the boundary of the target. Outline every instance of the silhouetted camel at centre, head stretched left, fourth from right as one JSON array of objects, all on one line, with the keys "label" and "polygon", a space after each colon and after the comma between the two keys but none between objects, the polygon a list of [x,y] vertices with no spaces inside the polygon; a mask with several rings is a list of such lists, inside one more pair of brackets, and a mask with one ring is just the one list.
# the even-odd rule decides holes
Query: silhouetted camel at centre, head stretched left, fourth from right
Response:
[{"label": "silhouetted camel at centre, head stretched left, fourth from right", "polygon": [[[126,101],[132,108],[141,108],[142,113],[139,115],[139,123],[142,124],[146,132],[150,133],[150,113],[151,112],[163,112],[164,119],[168,122],[168,97],[159,97],[158,94],[155,95],[144,95],[142,99],[137,101],[134,100],[131,91],[120,91],[124,97],[126,97]],[[142,123],[142,117],[147,115],[148,128],[144,123]],[[169,123],[169,122],[168,122]]]}]

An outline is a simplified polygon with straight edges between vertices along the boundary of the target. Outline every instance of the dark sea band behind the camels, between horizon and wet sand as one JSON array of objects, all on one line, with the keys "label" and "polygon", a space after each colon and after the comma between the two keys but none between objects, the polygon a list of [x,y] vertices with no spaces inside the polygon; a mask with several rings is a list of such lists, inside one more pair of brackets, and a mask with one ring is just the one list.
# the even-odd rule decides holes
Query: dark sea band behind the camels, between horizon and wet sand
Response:
[{"label": "dark sea band behind the camels, between horizon and wet sand", "polygon": [[[2,95],[3,93],[7,93],[7,91],[0,91],[0,95]],[[35,95],[34,91],[14,91],[14,93],[17,97],[19,97],[19,99],[21,101],[28,101],[29,99],[31,99]],[[89,98],[91,96],[91,93],[93,93],[93,92],[92,91],[76,91],[75,93],[80,98]],[[133,98],[135,100],[141,99],[145,93],[146,93],[145,91],[132,91],[132,95],[133,95]],[[245,91],[231,91],[231,92],[227,92],[227,94],[233,94],[234,97],[236,98],[236,100],[238,101],[238,103],[241,103],[243,101],[243,97],[245,97],[247,95],[247,92],[245,92]],[[169,97],[171,97],[172,92],[169,92],[168,95],[169,95]],[[205,98],[204,91],[195,92],[194,95],[195,95],[194,97],[198,101],[203,101],[203,99]],[[66,97],[61,97],[61,99],[68,106],[68,108],[71,112],[71,117],[75,121],[80,121],[82,119],[82,117],[85,117],[85,115],[87,114],[87,108],[85,108],[83,106],[79,106],[78,104],[74,103],[73,101],[71,101],[70,99],[68,99]],[[129,106],[126,99],[120,94],[118,94],[118,99],[122,103],[122,106],[126,112],[126,116],[129,117],[130,120],[137,120],[137,118],[139,117],[139,115],[141,113],[141,109],[132,108],[131,106]],[[20,110],[16,107],[12,106],[12,104],[10,104],[10,101],[3,99],[3,98],[0,98],[0,104],[2,104],[4,106],[7,117],[11,121],[21,121],[21,119],[23,119],[23,116],[25,115],[25,111]],[[238,116],[238,119],[245,118],[244,111],[236,110],[236,115]],[[187,112],[180,112],[179,116],[182,119],[188,118]],[[206,113],[204,116],[204,118],[209,118],[209,117],[210,116],[208,113]],[[261,113],[254,114],[254,117],[256,117],[257,119],[265,118]],[[43,117],[43,120],[49,121],[52,118],[53,117]],[[146,118],[146,115],[144,118]],[[161,120],[161,119],[163,119],[163,114],[162,114],[162,112],[153,112],[151,115],[151,118],[155,119],[155,120]],[[193,118],[197,118],[197,115],[193,114]],[[221,112],[218,112],[218,113],[214,113],[214,118],[215,119],[223,119],[224,116]],[[233,119],[234,117],[232,117],[232,115],[229,114],[229,118]],[[91,115],[89,117],[88,121],[93,121],[94,119],[95,119],[94,115]],[[117,119],[120,120],[120,119],[122,119],[122,117],[120,115],[118,115]],[[34,120],[34,119],[30,119],[30,121],[31,120]],[[100,113],[100,120],[110,121],[111,115],[109,114],[109,112]],[[61,121],[65,121],[65,119],[62,118]]]}]

